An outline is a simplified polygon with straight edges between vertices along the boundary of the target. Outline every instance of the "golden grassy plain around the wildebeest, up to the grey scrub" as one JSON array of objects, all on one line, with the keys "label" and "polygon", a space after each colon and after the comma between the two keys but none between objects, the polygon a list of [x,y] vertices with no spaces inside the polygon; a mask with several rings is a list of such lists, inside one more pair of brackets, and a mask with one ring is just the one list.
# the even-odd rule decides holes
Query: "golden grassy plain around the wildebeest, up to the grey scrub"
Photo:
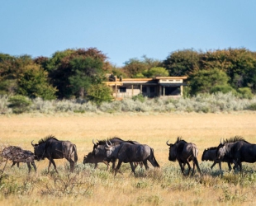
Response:
[{"label": "golden grassy plain around the wildebeest, up to the grey scrub", "polygon": [[[243,176],[227,169],[223,172],[212,162],[201,162],[205,148],[217,146],[220,138],[243,136],[256,143],[256,113],[226,114],[59,114],[0,116],[1,147],[20,146],[33,152],[31,141],[55,135],[59,140],[76,144],[78,162],[73,173],[66,160],[56,160],[59,174],[53,167],[47,173],[48,160],[36,162],[37,172],[12,162],[1,163],[1,205],[256,205],[256,166],[244,163]],[[100,163],[83,165],[83,157],[92,152],[92,139],[117,136],[148,144],[160,168],[149,171],[122,164],[123,175],[113,176]],[[178,162],[168,161],[166,141],[177,137],[196,143],[202,175],[182,176]],[[4,169],[3,169],[4,168]]]}]

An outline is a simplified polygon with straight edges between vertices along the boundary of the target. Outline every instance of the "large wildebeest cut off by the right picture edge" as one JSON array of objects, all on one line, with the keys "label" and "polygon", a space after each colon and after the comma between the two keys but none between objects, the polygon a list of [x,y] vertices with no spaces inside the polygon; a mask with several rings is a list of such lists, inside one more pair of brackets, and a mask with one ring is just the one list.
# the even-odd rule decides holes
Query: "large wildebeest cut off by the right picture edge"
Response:
[{"label": "large wildebeest cut off by the right picture edge", "polygon": [[248,143],[239,136],[226,139],[224,142],[220,140],[216,153],[217,159],[224,157],[229,161],[234,160],[240,172],[242,172],[242,162],[256,162],[256,144]]}]

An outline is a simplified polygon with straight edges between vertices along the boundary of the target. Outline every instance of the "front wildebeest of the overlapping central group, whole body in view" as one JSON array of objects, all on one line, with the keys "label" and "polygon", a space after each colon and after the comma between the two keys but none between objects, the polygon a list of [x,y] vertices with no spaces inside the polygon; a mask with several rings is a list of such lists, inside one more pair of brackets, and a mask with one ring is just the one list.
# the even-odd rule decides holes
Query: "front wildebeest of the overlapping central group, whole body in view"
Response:
[{"label": "front wildebeest of the overlapping central group, whole body in view", "polygon": [[147,161],[149,161],[154,167],[160,167],[159,163],[156,161],[154,157],[153,148],[149,147],[146,144],[111,143],[111,145],[109,145],[106,141],[105,149],[107,158],[118,159],[115,176],[116,172],[119,171],[122,162],[129,162],[131,170],[134,172],[134,174],[135,166],[133,165],[133,162],[143,162],[146,170],[149,169]]}]

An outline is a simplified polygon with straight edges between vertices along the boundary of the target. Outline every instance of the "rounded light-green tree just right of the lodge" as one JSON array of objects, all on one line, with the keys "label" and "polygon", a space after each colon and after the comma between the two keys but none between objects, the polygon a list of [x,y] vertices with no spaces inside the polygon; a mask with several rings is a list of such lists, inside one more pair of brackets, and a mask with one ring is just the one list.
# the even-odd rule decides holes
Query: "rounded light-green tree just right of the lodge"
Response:
[{"label": "rounded light-green tree just right of the lodge", "polygon": [[229,77],[225,72],[218,68],[211,70],[200,70],[195,73],[189,82],[191,94],[211,93],[216,91],[214,88],[219,86],[228,86]]}]

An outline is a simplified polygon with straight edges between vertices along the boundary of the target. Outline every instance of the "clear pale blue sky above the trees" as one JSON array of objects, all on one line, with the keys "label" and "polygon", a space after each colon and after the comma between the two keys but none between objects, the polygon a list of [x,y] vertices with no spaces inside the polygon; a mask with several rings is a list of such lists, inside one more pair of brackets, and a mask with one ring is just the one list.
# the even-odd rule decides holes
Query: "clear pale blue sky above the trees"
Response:
[{"label": "clear pale blue sky above the trees", "polygon": [[256,51],[255,0],[0,0],[0,53],[96,47],[116,66],[176,50]]}]

